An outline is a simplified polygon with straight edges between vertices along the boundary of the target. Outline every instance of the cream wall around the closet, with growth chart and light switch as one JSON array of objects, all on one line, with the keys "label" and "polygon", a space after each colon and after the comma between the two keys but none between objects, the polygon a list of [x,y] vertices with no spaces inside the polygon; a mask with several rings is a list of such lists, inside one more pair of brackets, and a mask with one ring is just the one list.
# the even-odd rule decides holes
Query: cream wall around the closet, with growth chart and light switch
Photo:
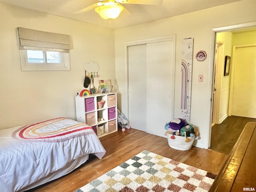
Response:
[{"label": "cream wall around the closet, with growth chart and light switch", "polygon": [[[174,117],[180,116],[181,94],[181,49],[184,38],[194,38],[194,55],[205,50],[207,58],[204,62],[193,60],[191,120],[200,132],[196,146],[208,148],[213,56],[212,28],[230,26],[256,21],[255,0],[242,0],[223,6],[209,8],[189,14],[148,22],[136,26],[115,30],[116,80],[118,85],[119,108],[128,114],[126,93],[126,68],[124,43],[128,41],[176,34],[176,70],[175,70],[175,101]],[[198,82],[198,75],[204,75],[204,82]],[[139,79],[139,77],[138,77]],[[154,94],[152,91],[152,94]],[[164,128],[165,122],[162,122]]]}]

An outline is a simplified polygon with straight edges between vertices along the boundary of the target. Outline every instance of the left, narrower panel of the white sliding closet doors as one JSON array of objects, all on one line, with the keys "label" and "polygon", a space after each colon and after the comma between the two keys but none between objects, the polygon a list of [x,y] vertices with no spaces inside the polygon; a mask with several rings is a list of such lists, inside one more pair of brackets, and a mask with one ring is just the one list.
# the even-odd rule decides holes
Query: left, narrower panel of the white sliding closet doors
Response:
[{"label": "left, narrower panel of the white sliding closet doors", "polygon": [[129,124],[146,131],[146,44],[128,47]]}]

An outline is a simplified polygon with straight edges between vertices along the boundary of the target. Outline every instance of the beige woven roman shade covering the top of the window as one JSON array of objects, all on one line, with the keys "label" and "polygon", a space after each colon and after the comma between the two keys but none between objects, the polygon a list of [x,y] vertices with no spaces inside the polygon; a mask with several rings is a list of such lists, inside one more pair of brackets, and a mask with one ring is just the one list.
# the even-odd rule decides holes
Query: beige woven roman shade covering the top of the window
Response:
[{"label": "beige woven roman shade covering the top of the window", "polygon": [[70,50],[69,35],[37,31],[18,27],[20,50],[48,49],[68,53]]}]

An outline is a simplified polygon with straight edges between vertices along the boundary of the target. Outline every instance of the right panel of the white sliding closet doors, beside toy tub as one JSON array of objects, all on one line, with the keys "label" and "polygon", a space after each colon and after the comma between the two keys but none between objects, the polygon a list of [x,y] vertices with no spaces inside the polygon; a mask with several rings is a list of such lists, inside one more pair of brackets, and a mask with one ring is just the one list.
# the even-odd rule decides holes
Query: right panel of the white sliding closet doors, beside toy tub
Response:
[{"label": "right panel of the white sliding closet doors, beside toy tub", "polygon": [[147,130],[164,137],[166,122],[174,116],[172,99],[173,41],[147,44]]}]

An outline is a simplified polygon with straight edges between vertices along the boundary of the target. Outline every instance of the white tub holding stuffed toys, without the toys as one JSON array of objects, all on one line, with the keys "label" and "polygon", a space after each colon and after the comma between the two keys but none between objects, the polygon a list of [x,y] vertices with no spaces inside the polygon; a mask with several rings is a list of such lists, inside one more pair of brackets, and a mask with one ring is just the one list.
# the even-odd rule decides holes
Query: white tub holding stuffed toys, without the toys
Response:
[{"label": "white tub holding stuffed toys, without the toys", "polygon": [[167,140],[168,140],[169,146],[173,149],[182,150],[182,151],[190,150],[195,139],[195,137],[187,137],[189,141],[185,142],[186,137],[173,135],[175,139],[171,139],[172,134],[169,134],[169,133],[166,133],[166,134],[167,134]]}]

